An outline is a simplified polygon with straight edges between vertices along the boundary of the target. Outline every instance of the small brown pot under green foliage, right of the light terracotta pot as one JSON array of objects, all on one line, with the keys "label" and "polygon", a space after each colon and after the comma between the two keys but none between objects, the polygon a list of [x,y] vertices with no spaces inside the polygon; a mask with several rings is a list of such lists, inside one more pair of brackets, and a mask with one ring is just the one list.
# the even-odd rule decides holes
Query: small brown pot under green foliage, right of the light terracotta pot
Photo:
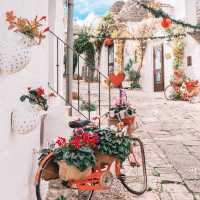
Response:
[{"label": "small brown pot under green foliage, right of the light terracotta pot", "polygon": [[114,156],[105,155],[100,152],[96,152],[95,156],[97,169],[103,169],[106,166],[112,165],[112,163],[116,160]]}]

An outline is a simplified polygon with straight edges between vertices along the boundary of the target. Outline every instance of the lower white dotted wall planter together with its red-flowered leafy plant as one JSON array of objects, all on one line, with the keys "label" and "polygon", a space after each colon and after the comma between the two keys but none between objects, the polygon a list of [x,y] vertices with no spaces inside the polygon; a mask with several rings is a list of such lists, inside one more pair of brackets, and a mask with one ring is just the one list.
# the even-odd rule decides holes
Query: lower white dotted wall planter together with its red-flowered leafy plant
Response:
[{"label": "lower white dotted wall planter together with its red-flowered leafy plant", "polygon": [[28,94],[22,95],[20,100],[28,102],[12,112],[12,130],[17,134],[28,134],[38,126],[41,111],[48,110],[47,96],[42,87],[28,88]]}]

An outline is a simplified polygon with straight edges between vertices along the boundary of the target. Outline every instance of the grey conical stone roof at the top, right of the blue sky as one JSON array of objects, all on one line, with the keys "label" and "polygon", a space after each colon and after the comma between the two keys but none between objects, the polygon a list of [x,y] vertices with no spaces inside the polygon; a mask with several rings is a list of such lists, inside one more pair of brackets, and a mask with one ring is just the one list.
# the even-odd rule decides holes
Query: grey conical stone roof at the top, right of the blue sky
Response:
[{"label": "grey conical stone roof at the top, right of the blue sky", "polygon": [[[149,0],[141,0],[141,3],[148,3]],[[147,11],[139,7],[136,0],[127,0],[117,19],[122,22],[139,22],[145,18]]]}]

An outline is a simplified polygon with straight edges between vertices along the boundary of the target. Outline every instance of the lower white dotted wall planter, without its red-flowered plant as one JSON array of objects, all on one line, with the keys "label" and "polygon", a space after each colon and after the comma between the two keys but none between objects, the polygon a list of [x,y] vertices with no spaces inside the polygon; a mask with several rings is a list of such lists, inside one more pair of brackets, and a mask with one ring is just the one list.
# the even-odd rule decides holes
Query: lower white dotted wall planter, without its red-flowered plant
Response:
[{"label": "lower white dotted wall planter, without its red-flowered plant", "polygon": [[37,128],[40,122],[40,113],[29,105],[15,109],[12,112],[12,131],[16,134],[28,134]]}]

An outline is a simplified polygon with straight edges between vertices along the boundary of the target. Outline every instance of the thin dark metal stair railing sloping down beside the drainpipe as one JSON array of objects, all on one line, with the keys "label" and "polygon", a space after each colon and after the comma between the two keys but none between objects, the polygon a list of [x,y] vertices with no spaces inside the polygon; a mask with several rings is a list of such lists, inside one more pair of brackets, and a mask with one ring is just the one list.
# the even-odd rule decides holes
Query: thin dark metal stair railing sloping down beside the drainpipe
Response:
[{"label": "thin dark metal stair railing sloping down beside the drainpipe", "polygon": [[[81,99],[81,96],[82,96],[82,80],[80,80],[80,77],[81,77],[81,65],[80,65],[80,61],[82,60],[83,62],[86,61],[86,59],[80,55],[78,52],[76,52],[72,47],[70,47],[63,39],[61,39],[57,34],[55,34],[53,31],[49,31],[50,34],[55,37],[55,41],[56,41],[56,89],[49,83],[49,88],[55,92],[63,101],[66,102],[66,105],[69,105],[74,111],[78,112],[79,115],[83,116],[84,118],[86,119],[91,119],[91,110],[88,109],[87,110],[87,116],[83,113],[83,111],[81,110],[81,101],[83,99]],[[77,92],[77,100],[76,102],[73,101],[72,104],[69,103],[69,101],[64,97],[65,95],[62,95],[60,94],[59,92],[59,87],[60,87],[60,84],[63,84],[63,83],[60,83],[60,79],[59,79],[59,75],[60,75],[60,63],[59,63],[59,60],[60,60],[60,50],[59,50],[59,47],[60,47],[60,43],[62,44],[63,46],[63,52],[64,52],[64,48],[65,47],[69,47],[73,53],[76,54],[77,56],[77,80],[73,80],[73,83],[76,84],[76,89],[75,89],[75,92]],[[66,58],[67,59],[67,58]],[[64,63],[63,63],[63,66],[64,66]],[[87,73],[90,74],[90,71],[91,71],[91,68],[89,68],[88,66],[84,66]],[[66,66],[66,62],[65,62],[65,70],[67,69],[67,66]],[[86,100],[87,101],[87,104],[88,104],[88,107],[90,108],[91,105],[93,104],[92,100],[95,99],[95,97],[97,97],[96,99],[96,108],[97,108],[97,115],[101,116],[103,113],[103,106],[108,106],[108,108],[105,108],[106,111],[108,111],[108,109],[110,109],[111,107],[111,89],[110,89],[110,82],[107,81],[108,83],[108,88],[106,89],[107,91],[105,91],[105,88],[102,88],[102,81],[107,80],[107,76],[105,76],[102,72],[100,72],[98,69],[94,68],[93,69],[94,72],[96,73],[96,78],[97,78],[97,81],[95,83],[93,83],[90,78],[87,79],[87,97],[86,97]],[[68,73],[66,73],[66,76],[69,76]],[[67,77],[66,77],[67,78]],[[95,91],[93,91],[93,85],[96,84],[96,88],[94,89]],[[67,90],[66,88],[64,88],[65,90]],[[66,91],[67,92],[67,91]],[[108,100],[108,105],[103,105],[102,104],[102,101],[101,101],[101,98],[104,97],[102,96],[102,92],[107,92],[108,96],[106,98],[106,100]],[[83,94],[84,96],[85,94]],[[100,126],[100,122],[99,122],[99,126]]]}]

